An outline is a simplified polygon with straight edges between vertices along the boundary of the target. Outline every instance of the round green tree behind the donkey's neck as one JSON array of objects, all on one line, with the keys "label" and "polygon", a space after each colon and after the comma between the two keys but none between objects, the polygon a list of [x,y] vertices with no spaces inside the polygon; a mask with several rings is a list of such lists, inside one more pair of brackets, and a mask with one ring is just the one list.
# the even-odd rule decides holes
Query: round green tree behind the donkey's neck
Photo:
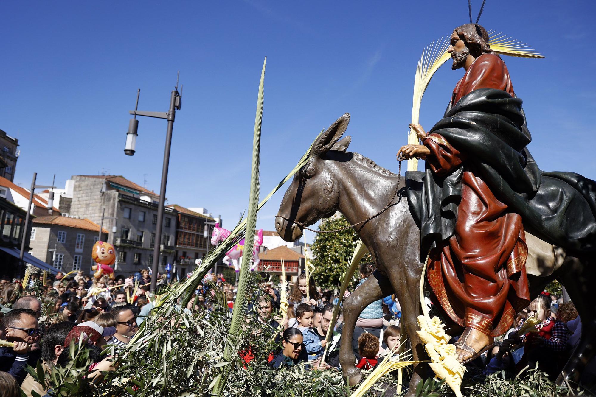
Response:
[{"label": "round green tree behind the donkey's neck", "polygon": [[[337,218],[325,219],[319,225],[319,230],[334,230],[349,225],[342,215]],[[358,235],[352,228],[335,233],[319,233],[315,236],[311,246],[312,255],[315,257],[312,259],[312,264],[315,266],[312,277],[317,286],[339,287],[347,262],[356,247],[356,242],[358,242]],[[371,257],[367,254],[361,262],[370,260]],[[358,277],[358,272],[356,272],[356,277]]]}]

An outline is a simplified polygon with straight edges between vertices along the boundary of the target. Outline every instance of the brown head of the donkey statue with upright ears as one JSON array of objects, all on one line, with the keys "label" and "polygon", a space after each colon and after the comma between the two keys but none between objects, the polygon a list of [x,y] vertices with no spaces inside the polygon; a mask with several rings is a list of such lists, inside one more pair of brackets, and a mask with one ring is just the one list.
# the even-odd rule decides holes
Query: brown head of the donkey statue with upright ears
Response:
[{"label": "brown head of the donkey statue with upright ears", "polygon": [[303,229],[295,221],[312,225],[336,212],[340,192],[330,160],[336,157],[332,153],[344,152],[350,144],[349,136],[340,141],[349,122],[346,113],[323,132],[312,146],[312,158],[294,175],[275,218],[275,229],[285,241],[296,241],[302,235]]}]

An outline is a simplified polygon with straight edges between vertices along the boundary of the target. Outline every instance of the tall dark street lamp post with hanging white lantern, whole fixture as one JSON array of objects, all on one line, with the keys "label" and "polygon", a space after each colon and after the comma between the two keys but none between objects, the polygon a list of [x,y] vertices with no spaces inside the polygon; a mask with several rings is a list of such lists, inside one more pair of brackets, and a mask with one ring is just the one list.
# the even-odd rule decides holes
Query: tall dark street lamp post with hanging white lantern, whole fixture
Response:
[{"label": "tall dark street lamp post with hanging white lantern, whole fixture", "polygon": [[136,94],[136,106],[135,110],[129,111],[130,114],[134,114],[134,118],[130,120],[128,124],[128,132],[126,132],[126,146],[124,153],[127,156],[133,156],[135,154],[137,129],[139,126],[136,116],[156,117],[157,119],[167,120],[166,130],[166,146],[163,154],[163,168],[162,168],[162,185],[159,191],[159,204],[157,206],[157,233],[155,246],[153,247],[153,264],[151,273],[151,290],[155,291],[157,287],[157,271],[159,270],[159,249],[162,243],[162,232],[163,232],[163,212],[166,204],[166,185],[167,185],[167,169],[170,163],[170,147],[172,145],[172,129],[174,126],[174,119],[176,117],[176,109],[180,110],[182,107],[182,95],[178,92],[178,83],[172,90],[170,95],[170,109],[165,112],[161,111],[137,111],[136,107],[139,104],[139,91]]}]

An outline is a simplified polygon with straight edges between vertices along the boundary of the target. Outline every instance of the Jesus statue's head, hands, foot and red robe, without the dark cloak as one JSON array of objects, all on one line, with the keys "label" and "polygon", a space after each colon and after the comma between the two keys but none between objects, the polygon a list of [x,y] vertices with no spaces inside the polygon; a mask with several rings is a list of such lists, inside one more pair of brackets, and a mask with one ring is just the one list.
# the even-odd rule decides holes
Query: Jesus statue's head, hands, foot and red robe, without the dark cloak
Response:
[{"label": "Jesus statue's head, hands, foot and red robe, without the dark cloak", "polygon": [[[496,89],[515,97],[507,66],[488,41],[486,29],[477,24],[464,24],[453,31],[448,48],[452,69],[463,68],[465,73],[455,85],[446,114],[478,89]],[[443,193],[450,184],[460,189],[457,194],[434,197],[455,197],[457,221],[451,231],[443,233],[446,238],[435,238],[427,277],[446,314],[465,327],[456,343],[456,355],[460,362],[467,362],[490,348],[494,337],[505,333],[516,312],[529,303],[522,216],[500,198],[500,192],[493,191],[483,170],[477,168],[482,152],[475,145],[482,142],[461,144],[433,132],[436,128],[427,134],[420,125],[410,126],[422,144],[405,145],[399,153],[406,159],[426,159],[427,172]],[[468,161],[470,157],[476,161]]]}]

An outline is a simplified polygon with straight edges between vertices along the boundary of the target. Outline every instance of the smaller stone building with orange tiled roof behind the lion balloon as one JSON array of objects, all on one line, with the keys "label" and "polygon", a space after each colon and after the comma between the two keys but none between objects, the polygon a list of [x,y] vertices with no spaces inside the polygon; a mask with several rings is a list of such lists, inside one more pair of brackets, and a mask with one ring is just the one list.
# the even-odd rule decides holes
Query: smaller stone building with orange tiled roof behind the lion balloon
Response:
[{"label": "smaller stone building with orange tiled roof behind the lion balloon", "polygon": [[[82,270],[91,274],[93,244],[99,240],[100,225],[89,219],[68,218],[67,216],[38,216],[33,219],[29,251],[31,255],[64,272]],[[104,241],[108,231],[102,230]]]}]

